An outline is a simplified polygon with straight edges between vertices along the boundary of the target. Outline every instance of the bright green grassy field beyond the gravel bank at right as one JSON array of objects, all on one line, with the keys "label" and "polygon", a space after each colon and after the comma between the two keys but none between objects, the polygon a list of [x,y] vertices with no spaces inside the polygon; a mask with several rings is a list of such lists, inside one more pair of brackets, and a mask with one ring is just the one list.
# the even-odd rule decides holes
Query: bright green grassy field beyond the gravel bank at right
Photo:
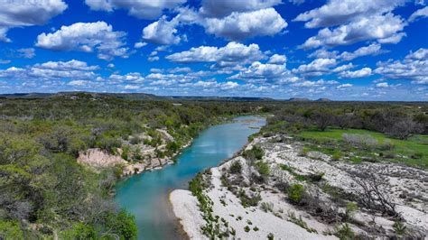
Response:
[{"label": "bright green grassy field beyond the gravel bank at right", "polygon": [[[382,155],[394,155],[394,158],[382,158],[383,160],[390,162],[404,162],[407,165],[428,169],[428,135],[414,135],[408,140],[399,140],[388,137],[386,134],[381,134],[377,132],[371,132],[367,130],[359,130],[359,129],[327,129],[324,132],[321,131],[303,131],[298,134],[299,137],[315,141],[316,143],[320,143],[320,150],[325,150],[323,152],[337,152],[338,149],[345,153],[349,153],[349,149],[344,150],[342,147],[343,143],[343,134],[368,134],[371,137],[377,139],[379,144],[383,143],[392,143],[394,148],[392,150],[383,151],[379,149],[375,149],[372,151],[363,151],[358,149],[352,149],[350,152],[357,153],[358,156],[370,156],[376,157],[376,153],[381,153]],[[322,149],[323,143],[326,144],[326,148]],[[336,144],[336,147],[335,147]],[[352,162],[360,162],[359,158],[350,158]],[[380,157],[377,157],[377,160],[380,160]]]}]

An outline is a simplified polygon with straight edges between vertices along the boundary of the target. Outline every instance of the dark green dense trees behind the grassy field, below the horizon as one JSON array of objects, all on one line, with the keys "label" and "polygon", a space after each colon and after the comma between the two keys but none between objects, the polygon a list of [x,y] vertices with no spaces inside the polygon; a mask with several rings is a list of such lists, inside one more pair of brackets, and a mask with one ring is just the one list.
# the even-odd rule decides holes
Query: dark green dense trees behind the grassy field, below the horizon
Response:
[{"label": "dark green dense trees behind the grassy field, below the horizon", "polygon": [[269,123],[283,123],[287,131],[312,126],[325,131],[331,126],[366,129],[398,139],[406,139],[412,134],[428,134],[426,103],[298,103],[276,106],[269,111],[274,113]]}]

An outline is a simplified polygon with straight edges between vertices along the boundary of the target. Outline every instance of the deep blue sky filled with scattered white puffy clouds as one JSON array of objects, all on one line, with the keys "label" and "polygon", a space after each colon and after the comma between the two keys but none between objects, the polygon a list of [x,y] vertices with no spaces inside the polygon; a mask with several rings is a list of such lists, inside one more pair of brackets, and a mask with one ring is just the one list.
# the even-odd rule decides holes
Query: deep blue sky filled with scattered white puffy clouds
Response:
[{"label": "deep blue sky filled with scattered white puffy clouds", "polygon": [[0,93],[428,99],[423,0],[0,0]]}]

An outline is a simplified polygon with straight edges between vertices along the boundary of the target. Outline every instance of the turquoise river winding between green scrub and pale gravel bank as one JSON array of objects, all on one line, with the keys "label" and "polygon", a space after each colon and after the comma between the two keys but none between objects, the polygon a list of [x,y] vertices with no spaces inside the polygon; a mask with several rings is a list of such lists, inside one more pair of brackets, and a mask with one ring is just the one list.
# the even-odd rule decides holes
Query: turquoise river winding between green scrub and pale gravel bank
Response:
[{"label": "turquoise river winding between green scrub and pale gravel bank", "polygon": [[180,238],[168,194],[173,189],[187,189],[198,172],[233,156],[263,125],[265,118],[239,116],[232,123],[211,126],[177,157],[177,163],[120,181],[116,202],[135,215],[138,239]]}]

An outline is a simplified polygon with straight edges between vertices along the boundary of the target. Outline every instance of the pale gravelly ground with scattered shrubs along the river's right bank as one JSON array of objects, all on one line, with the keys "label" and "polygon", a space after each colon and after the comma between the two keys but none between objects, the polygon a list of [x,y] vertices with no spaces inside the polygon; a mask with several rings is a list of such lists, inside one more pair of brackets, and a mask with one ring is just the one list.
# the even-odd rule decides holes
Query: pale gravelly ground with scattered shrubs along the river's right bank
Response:
[{"label": "pale gravelly ground with scattered shrubs along the river's right bank", "polygon": [[[248,181],[248,168],[244,158],[237,156],[217,168],[212,168],[210,183],[211,188],[206,190],[207,196],[213,201],[213,215],[223,217],[228,221],[228,225],[236,229],[237,238],[241,239],[266,239],[266,235],[272,233],[275,239],[324,239],[336,238],[328,235],[333,232],[336,224],[323,221],[320,217],[314,217],[304,209],[296,207],[286,201],[286,195],[274,189],[274,180],[284,180],[286,182],[297,182],[288,171],[280,169],[280,164],[293,167],[299,174],[310,174],[323,172],[323,181],[331,186],[343,189],[345,192],[358,192],[358,185],[355,178],[358,172],[373,172],[379,179],[385,182],[385,192],[396,204],[397,212],[405,219],[405,225],[409,230],[415,231],[418,235],[428,234],[428,173],[426,171],[406,167],[393,163],[361,163],[351,164],[346,162],[335,162],[330,160],[330,156],[321,152],[309,152],[307,156],[300,156],[302,145],[293,140],[276,143],[275,137],[256,138],[247,145],[251,149],[254,144],[262,147],[265,152],[263,160],[268,162],[271,169],[269,180],[258,186],[262,197],[261,202],[269,203],[273,210],[265,212],[257,207],[244,208],[239,198],[231,191],[223,187],[220,177],[222,173],[228,171],[231,162],[239,161],[243,165],[243,181]],[[357,174],[357,175],[356,175]],[[313,184],[299,181],[311,193],[317,193],[319,200],[325,201],[327,205],[335,208],[327,194]],[[244,188],[245,189],[245,188]],[[249,188],[246,189],[249,192]],[[207,238],[201,235],[200,227],[205,222],[198,212],[198,203],[191,192],[187,190],[174,190],[170,196],[174,213],[181,219],[183,229],[191,236],[191,239]],[[339,212],[344,212],[345,208],[337,207]],[[290,221],[289,213],[302,217],[307,226],[315,229],[316,233],[309,233],[301,226],[297,226]],[[237,220],[242,217],[242,220]],[[386,235],[394,235],[391,217],[376,214],[374,219],[376,226],[370,222],[373,215],[365,209],[358,209],[353,217],[354,221],[349,226],[354,232],[364,235],[372,235],[377,238],[384,238]],[[248,225],[247,221],[252,225]],[[363,223],[355,225],[354,222]],[[245,226],[250,226],[251,230],[246,232]],[[253,227],[257,226],[258,231]],[[381,233],[374,233],[371,228],[379,230]],[[375,231],[375,230],[373,230]],[[380,236],[382,235],[382,236]]]}]

